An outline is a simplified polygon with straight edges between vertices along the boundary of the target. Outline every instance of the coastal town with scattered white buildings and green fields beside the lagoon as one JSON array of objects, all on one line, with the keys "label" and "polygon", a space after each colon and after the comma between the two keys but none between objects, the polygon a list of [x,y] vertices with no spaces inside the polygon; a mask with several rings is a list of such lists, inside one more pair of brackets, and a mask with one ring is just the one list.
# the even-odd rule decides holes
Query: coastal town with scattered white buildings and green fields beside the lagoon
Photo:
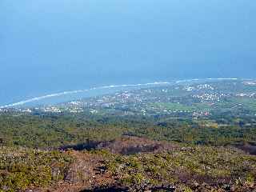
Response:
[{"label": "coastal town with scattered white buildings and green fields beside the lagoon", "polygon": [[[52,106],[0,109],[19,113],[89,113],[118,115],[209,116],[214,111],[246,109],[255,103],[256,83],[245,81],[205,82],[178,86],[153,86],[122,90],[114,94],[84,98]],[[255,107],[256,108],[256,107]],[[254,110],[250,105],[250,110]]]}]

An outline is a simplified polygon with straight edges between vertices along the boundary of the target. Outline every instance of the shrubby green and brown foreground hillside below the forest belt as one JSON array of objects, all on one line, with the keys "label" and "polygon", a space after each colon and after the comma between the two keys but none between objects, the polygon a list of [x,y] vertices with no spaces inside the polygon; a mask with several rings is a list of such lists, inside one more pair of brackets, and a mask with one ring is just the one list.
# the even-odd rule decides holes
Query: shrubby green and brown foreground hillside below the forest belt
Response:
[{"label": "shrubby green and brown foreground hillside below the forest belt", "polygon": [[[149,146],[159,147],[149,150]],[[136,153],[130,154],[136,147]],[[242,150],[170,147],[165,142],[127,137],[99,143],[97,148],[50,152],[4,147],[0,186],[3,191],[256,190],[256,157]]]}]

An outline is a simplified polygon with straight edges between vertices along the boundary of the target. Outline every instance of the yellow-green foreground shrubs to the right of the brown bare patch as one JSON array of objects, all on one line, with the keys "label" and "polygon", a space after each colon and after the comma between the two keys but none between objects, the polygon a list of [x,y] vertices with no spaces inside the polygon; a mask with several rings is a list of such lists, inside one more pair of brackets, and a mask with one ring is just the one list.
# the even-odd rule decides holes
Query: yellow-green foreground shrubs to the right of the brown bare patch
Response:
[{"label": "yellow-green foreground shrubs to the right of the brown bare patch", "polygon": [[134,190],[173,184],[175,191],[247,191],[256,177],[256,157],[234,149],[197,146],[160,154],[102,154],[108,171]]}]

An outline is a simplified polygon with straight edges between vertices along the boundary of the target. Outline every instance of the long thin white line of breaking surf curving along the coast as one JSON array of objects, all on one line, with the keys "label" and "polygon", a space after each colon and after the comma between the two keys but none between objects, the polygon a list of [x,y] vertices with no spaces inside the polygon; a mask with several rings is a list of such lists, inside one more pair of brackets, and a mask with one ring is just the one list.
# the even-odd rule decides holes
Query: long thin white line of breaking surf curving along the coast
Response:
[{"label": "long thin white line of breaking surf curving along the coast", "polygon": [[[199,78],[194,78],[194,79],[186,79],[186,80],[179,80],[176,81],[175,83],[180,83],[180,82],[196,82],[196,81],[202,81],[202,80],[238,80],[238,78],[203,78],[203,79],[199,79]],[[87,90],[70,90],[70,91],[64,91],[61,93],[57,93],[57,94],[46,94],[40,97],[36,97],[36,98],[30,98],[21,102],[14,102],[11,103],[9,105],[6,106],[0,106],[0,109],[2,108],[8,108],[8,107],[14,107],[14,106],[22,106],[26,103],[30,103],[30,102],[38,102],[40,100],[46,99],[46,98],[54,98],[54,97],[60,97],[63,95],[67,95],[67,94],[79,94],[79,93],[85,93],[88,92],[90,90],[105,90],[105,89],[112,89],[112,88],[121,88],[121,87],[136,87],[136,86],[157,86],[157,85],[166,85],[166,84],[172,84],[174,82],[148,82],[148,83],[139,83],[139,84],[124,84],[124,85],[111,85],[111,86],[97,86],[97,87],[93,87]]]}]

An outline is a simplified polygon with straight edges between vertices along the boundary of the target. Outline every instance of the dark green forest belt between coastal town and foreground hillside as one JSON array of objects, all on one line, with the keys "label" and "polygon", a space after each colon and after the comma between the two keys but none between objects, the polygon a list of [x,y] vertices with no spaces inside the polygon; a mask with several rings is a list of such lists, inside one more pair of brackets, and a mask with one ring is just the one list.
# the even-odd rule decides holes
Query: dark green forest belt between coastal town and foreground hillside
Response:
[{"label": "dark green forest belt between coastal town and foreground hillside", "polygon": [[256,141],[255,122],[255,117],[228,115],[195,119],[90,114],[0,115],[0,145],[51,149],[129,134],[154,140],[226,146]]}]

